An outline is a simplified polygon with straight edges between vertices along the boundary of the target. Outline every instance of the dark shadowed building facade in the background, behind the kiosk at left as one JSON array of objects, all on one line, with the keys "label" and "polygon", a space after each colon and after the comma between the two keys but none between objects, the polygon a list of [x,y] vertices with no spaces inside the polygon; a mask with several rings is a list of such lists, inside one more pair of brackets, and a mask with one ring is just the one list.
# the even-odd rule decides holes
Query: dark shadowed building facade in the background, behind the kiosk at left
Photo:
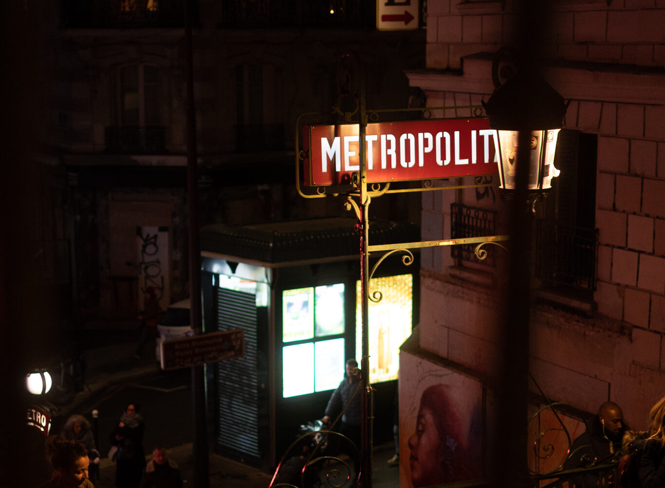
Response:
[{"label": "dark shadowed building facade in the background, behind the kiosk at left", "polygon": [[[307,2],[194,5],[199,225],[344,214],[331,199],[297,195],[295,120],[331,112],[348,50],[364,63],[368,103],[405,107],[404,70],[424,65],[424,31],[375,31],[374,8],[362,2],[334,13]],[[72,246],[72,310],[88,323],[132,321],[150,266],[137,227],[162,228],[162,308],[189,293],[182,2],[61,7],[50,108],[67,181],[59,211]],[[418,220],[417,203],[382,211]]]}]

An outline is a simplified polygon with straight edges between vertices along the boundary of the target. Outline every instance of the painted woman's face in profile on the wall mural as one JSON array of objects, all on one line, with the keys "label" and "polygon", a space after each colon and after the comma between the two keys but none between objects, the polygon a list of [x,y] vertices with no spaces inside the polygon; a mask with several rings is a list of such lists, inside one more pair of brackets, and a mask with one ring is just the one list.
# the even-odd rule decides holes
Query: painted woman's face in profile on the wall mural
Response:
[{"label": "painted woman's face in profile on the wall mural", "polygon": [[444,446],[436,430],[434,413],[420,407],[416,419],[416,432],[409,438],[411,482],[414,488],[446,483],[443,469]]}]

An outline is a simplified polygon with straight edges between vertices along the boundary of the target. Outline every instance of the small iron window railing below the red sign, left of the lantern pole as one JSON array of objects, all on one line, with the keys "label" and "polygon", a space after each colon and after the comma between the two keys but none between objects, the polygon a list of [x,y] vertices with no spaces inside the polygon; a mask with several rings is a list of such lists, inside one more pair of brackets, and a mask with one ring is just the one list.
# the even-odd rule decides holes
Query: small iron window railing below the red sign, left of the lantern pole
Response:
[{"label": "small iron window railing below the red sign, left of the lantern pole", "polygon": [[[497,212],[461,203],[450,204],[450,236],[453,239],[464,237],[493,236]],[[487,258],[479,260],[475,256],[476,244],[450,246],[452,257],[458,260],[494,266],[494,249],[487,248]]]}]

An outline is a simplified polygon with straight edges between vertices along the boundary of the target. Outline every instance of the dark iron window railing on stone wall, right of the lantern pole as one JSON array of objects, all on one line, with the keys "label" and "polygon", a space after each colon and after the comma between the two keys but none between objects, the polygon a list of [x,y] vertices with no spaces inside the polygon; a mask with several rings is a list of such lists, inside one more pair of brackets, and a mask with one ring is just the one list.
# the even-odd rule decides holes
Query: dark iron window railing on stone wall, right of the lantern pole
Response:
[{"label": "dark iron window railing on stone wall, right of the lantern pole", "polygon": [[539,220],[536,276],[546,287],[596,289],[598,230]]}]

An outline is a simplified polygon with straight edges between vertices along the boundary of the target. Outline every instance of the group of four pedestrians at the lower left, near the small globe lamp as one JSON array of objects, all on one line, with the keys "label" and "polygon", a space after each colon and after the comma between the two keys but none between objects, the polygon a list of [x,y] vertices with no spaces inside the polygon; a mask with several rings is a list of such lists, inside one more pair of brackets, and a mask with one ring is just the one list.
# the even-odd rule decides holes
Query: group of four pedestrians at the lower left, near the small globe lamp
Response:
[{"label": "group of four pedestrians at the lower left, near the small globe lamp", "polygon": [[[166,449],[156,446],[146,463],[143,448],[144,420],[137,404],[128,404],[118,424],[109,435],[109,457],[116,463],[118,488],[182,488],[178,465],[166,457]],[[94,488],[90,466],[99,463],[90,423],[81,415],[72,415],[60,436],[49,436],[46,455],[53,474],[38,488]]]}]

